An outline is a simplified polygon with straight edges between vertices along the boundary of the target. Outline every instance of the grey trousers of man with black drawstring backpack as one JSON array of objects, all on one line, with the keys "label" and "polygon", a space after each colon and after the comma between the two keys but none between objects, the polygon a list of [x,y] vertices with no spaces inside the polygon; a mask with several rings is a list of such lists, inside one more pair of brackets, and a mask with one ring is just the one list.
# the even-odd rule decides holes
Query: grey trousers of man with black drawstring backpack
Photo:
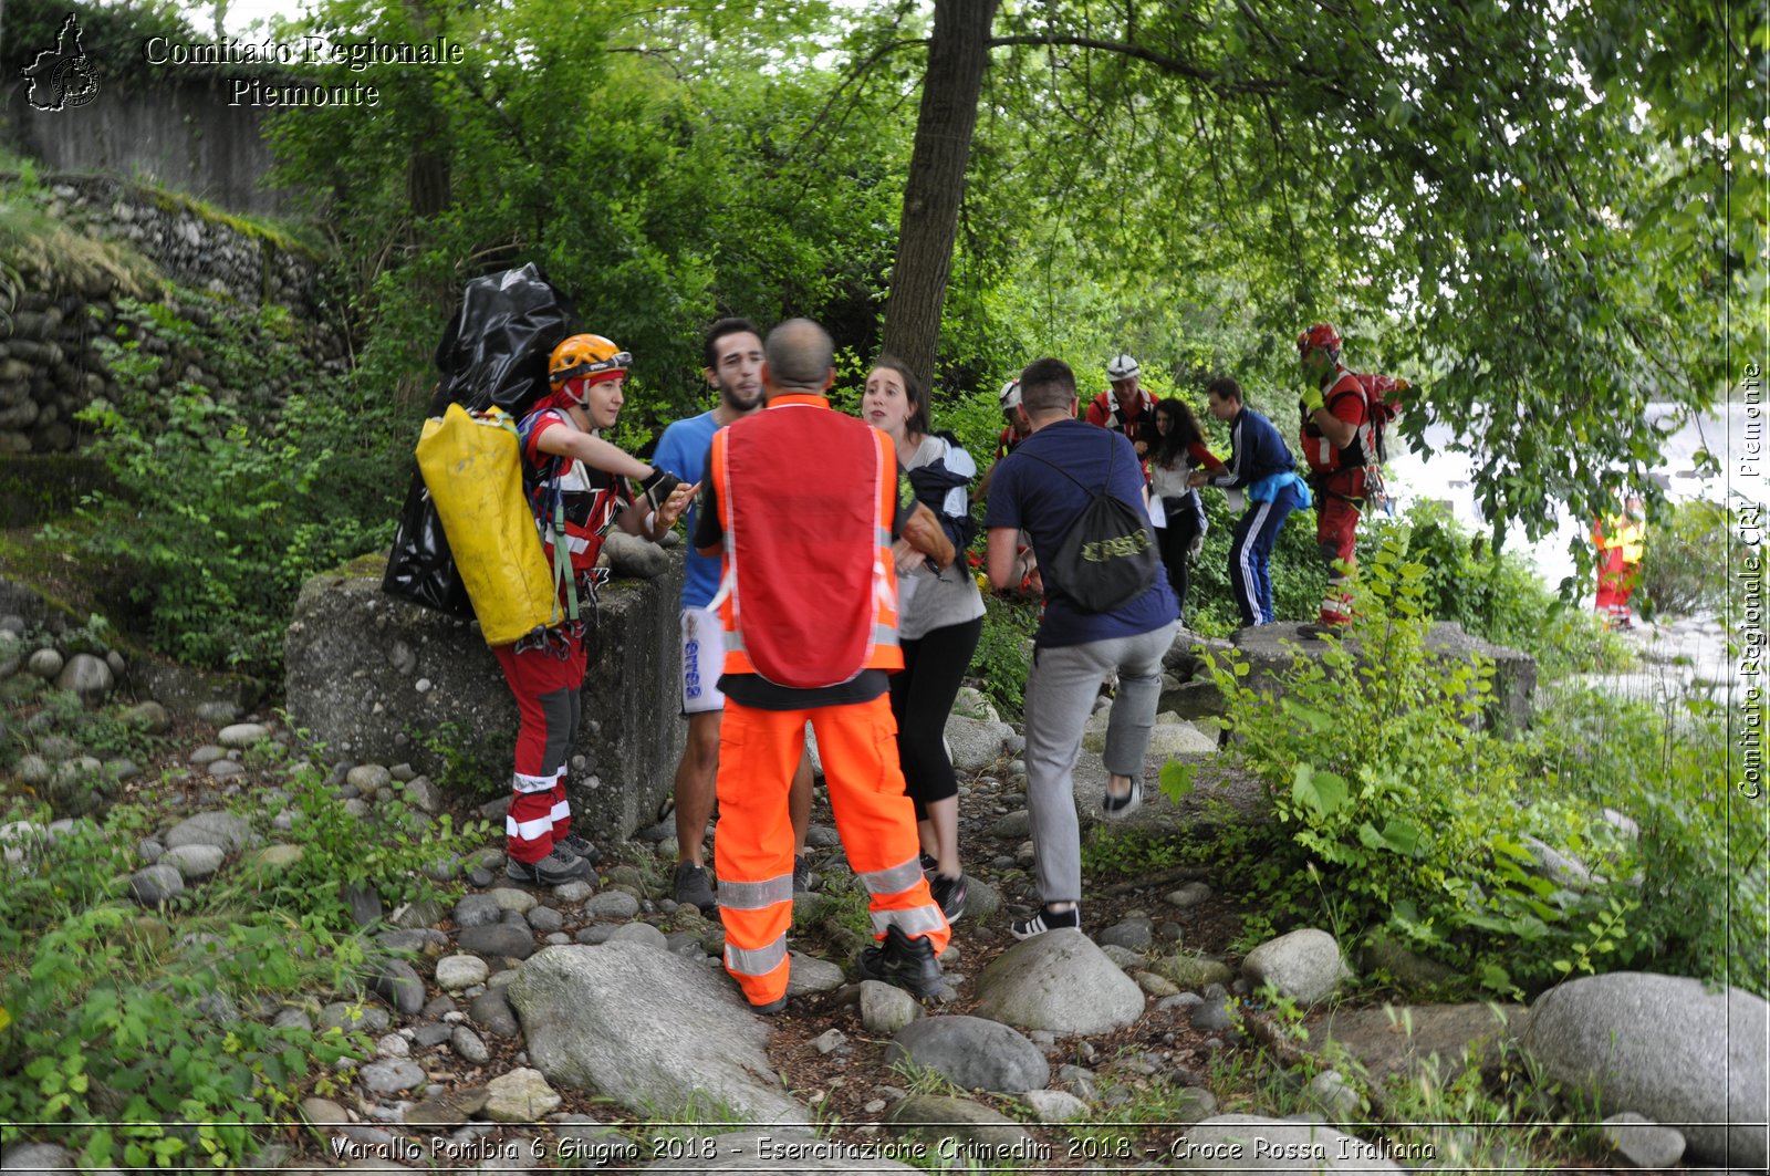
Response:
[{"label": "grey trousers of man with black drawstring backpack", "polygon": [[1135,638],[1060,645],[1034,654],[1027,675],[1027,816],[1039,898],[1081,901],[1081,829],[1074,772],[1081,730],[1094,712],[1101,680],[1119,671],[1119,696],[1106,724],[1106,770],[1143,778],[1149,728],[1161,700],[1161,655],[1179,622]]}]

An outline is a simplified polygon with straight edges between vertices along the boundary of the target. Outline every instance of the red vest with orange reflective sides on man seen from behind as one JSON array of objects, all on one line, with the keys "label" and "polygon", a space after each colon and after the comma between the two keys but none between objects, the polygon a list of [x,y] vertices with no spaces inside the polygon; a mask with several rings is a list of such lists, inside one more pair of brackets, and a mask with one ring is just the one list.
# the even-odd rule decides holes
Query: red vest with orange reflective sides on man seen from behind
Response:
[{"label": "red vest with orange reflective sides on man seen from behind", "polygon": [[901,669],[897,453],[816,395],[781,395],[713,434],[726,673],[793,689]]}]

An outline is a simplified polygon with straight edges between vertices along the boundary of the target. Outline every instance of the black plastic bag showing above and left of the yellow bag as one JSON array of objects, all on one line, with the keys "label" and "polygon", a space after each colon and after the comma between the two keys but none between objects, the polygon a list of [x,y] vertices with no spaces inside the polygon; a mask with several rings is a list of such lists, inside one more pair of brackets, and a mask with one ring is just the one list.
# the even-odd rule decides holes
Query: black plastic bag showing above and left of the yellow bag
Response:
[{"label": "black plastic bag showing above and left of the yellow bag", "polygon": [[[478,413],[496,404],[522,416],[547,390],[547,358],[573,321],[570,299],[533,264],[474,278],[437,344],[441,383],[430,416],[441,416],[450,404]],[[451,616],[473,616],[442,519],[416,469],[381,590]]]}]

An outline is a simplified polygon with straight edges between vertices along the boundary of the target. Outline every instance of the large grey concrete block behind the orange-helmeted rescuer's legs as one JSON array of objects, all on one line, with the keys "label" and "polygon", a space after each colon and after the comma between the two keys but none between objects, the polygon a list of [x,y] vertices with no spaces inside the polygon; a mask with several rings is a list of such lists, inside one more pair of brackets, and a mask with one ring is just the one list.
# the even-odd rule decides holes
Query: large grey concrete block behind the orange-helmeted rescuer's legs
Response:
[{"label": "large grey concrete block behind the orange-helmeted rescuer's legs", "polygon": [[[363,556],[303,584],[283,654],[290,721],[333,758],[404,760],[439,774],[446,747],[483,776],[473,799],[506,795],[517,701],[497,661],[478,625],[382,593],[384,569],[386,556]],[[573,832],[593,841],[650,825],[671,793],[687,733],[681,574],[681,553],[671,551],[662,576],[602,590],[566,772]]]}]

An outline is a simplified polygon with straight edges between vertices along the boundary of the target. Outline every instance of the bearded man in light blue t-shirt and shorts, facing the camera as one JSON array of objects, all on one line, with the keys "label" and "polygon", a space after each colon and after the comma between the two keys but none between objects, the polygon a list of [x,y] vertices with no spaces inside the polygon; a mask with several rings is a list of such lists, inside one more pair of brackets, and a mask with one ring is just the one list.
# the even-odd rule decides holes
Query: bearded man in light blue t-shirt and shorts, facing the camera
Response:
[{"label": "bearded man in light blue t-shirt and shorts, facing the camera", "polygon": [[[674,471],[683,482],[699,484],[706,475],[706,452],[713,434],[763,406],[763,338],[749,319],[720,319],[703,344],[706,383],[719,391],[710,413],[671,423],[651,462]],[[699,499],[689,507],[694,535]],[[703,556],[689,544],[681,584],[681,714],[689,719],[689,742],[676,763],[676,877],[678,903],[712,912],[719,901],[706,880],[706,822],[713,816],[719,772],[719,719],[726,696],[719,675],[726,664],[726,634],[719,611],[710,607],[719,592],[719,558]],[[788,795],[793,818],[793,887],[811,889],[805,864],[805,827],[811,824],[811,760],[800,758]]]}]

